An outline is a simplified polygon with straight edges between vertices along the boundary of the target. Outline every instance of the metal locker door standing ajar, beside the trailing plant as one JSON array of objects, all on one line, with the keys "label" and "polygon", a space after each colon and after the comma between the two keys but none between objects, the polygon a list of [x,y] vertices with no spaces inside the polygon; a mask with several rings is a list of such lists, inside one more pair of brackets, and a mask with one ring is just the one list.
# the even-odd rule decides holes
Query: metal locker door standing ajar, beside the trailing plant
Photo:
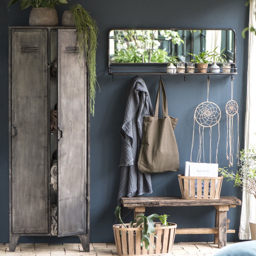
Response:
[{"label": "metal locker door standing ajar, beside the trailing plant", "polygon": [[87,232],[87,67],[75,29],[58,29],[58,236]]}]

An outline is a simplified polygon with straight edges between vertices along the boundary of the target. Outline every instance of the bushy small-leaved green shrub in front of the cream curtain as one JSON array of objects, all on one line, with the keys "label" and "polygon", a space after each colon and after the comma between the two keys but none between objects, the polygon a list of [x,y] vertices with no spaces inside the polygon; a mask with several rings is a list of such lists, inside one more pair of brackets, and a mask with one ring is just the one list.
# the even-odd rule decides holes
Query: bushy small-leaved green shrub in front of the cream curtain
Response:
[{"label": "bushy small-leaved green shrub in front of the cream curtain", "polygon": [[235,186],[242,187],[242,190],[254,195],[256,198],[256,149],[242,150],[238,155],[238,165],[241,166],[236,173],[228,172],[227,167],[219,168],[220,173],[225,178],[233,180]]}]

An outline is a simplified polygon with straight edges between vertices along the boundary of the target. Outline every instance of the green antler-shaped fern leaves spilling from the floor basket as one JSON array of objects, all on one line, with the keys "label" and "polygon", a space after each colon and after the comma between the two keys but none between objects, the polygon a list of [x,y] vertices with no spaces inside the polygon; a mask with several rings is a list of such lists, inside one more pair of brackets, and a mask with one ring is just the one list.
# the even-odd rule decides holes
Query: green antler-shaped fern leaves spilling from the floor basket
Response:
[{"label": "green antler-shaped fern leaves spilling from the floor basket", "polygon": [[[143,247],[144,244],[145,244],[146,250],[148,250],[149,244],[151,244],[151,246],[154,247],[154,245],[150,242],[150,234],[155,233],[154,220],[159,219],[164,226],[168,227],[168,222],[167,222],[168,216],[169,215],[151,214],[150,216],[146,217],[143,214],[143,215],[136,216],[136,218],[130,222],[130,228],[132,228],[132,227],[137,228],[138,226],[140,226],[143,223],[141,247]],[[123,223],[121,216],[120,216],[120,206],[117,206],[115,209],[115,217],[125,228],[127,228],[127,226]],[[140,219],[138,221],[136,221],[137,218],[140,218]],[[144,241],[144,244],[143,244],[143,241]]]}]

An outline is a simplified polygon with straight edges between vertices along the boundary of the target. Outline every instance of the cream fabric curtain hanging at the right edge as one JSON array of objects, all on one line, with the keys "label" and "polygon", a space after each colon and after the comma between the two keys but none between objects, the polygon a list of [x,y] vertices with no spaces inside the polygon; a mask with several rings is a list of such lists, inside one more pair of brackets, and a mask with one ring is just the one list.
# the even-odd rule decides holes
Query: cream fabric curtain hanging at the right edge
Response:
[{"label": "cream fabric curtain hanging at the right edge", "polygon": [[[256,27],[255,21],[256,0],[250,2],[249,28]],[[256,36],[249,32],[248,46],[248,70],[247,70],[247,98],[246,98],[246,119],[244,131],[244,150],[248,150],[256,145],[256,86],[255,86],[255,59],[256,59]],[[256,219],[256,200],[253,195],[243,191],[242,210],[239,227],[239,239],[251,239],[249,221]]]}]

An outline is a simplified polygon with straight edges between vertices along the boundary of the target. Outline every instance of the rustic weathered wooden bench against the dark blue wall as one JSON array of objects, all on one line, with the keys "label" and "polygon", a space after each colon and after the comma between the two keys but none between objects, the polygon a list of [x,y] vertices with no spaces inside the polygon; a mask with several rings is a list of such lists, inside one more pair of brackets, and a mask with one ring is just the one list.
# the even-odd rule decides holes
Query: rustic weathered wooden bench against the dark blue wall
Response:
[{"label": "rustic weathered wooden bench against the dark blue wall", "polygon": [[[122,197],[121,202],[124,207],[134,211],[134,218],[145,212],[145,207],[153,206],[204,206],[212,205],[215,211],[214,228],[177,228],[176,234],[214,234],[214,243],[219,248],[227,245],[227,233],[235,233],[235,230],[228,229],[229,220],[227,211],[229,207],[241,205],[241,200],[235,196],[222,196],[216,200],[182,199],[181,197],[161,197],[161,196],[140,196]],[[178,226],[178,225],[177,225]]]}]

